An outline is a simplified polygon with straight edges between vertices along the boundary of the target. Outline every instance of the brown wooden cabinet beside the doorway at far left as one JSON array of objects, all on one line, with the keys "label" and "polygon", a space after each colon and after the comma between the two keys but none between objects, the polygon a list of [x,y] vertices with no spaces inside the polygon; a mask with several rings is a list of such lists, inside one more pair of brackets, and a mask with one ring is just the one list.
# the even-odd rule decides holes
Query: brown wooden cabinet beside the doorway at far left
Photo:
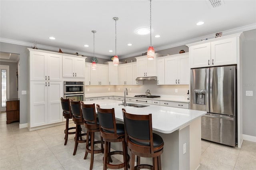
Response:
[{"label": "brown wooden cabinet beside the doorway at far left", "polygon": [[6,99],[6,124],[20,121],[20,99]]}]

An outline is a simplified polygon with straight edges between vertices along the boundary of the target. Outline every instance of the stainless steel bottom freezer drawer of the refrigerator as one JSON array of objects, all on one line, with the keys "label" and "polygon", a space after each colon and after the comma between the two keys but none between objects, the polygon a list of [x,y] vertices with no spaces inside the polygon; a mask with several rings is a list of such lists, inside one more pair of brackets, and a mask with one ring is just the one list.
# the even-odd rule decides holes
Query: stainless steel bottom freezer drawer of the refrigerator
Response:
[{"label": "stainless steel bottom freezer drawer of the refrigerator", "polygon": [[202,139],[235,146],[235,117],[207,113],[202,116]]}]

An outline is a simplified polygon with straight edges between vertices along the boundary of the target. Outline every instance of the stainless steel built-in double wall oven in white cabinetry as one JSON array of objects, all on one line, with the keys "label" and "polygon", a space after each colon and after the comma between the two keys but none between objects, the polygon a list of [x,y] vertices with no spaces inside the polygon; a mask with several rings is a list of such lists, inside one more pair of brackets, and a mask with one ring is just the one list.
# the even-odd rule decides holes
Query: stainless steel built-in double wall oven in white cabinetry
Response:
[{"label": "stainless steel built-in double wall oven in white cabinetry", "polygon": [[84,101],[84,82],[64,81],[64,99]]}]

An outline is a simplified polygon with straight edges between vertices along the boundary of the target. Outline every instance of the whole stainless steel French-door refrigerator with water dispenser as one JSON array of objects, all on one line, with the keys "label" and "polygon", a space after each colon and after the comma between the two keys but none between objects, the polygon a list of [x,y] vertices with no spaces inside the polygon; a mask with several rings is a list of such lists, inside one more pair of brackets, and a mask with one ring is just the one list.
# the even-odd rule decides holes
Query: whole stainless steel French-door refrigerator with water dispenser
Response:
[{"label": "whole stainless steel French-door refrigerator with water dispenser", "polygon": [[202,139],[235,146],[237,142],[236,66],[191,69],[190,109],[207,111]]}]

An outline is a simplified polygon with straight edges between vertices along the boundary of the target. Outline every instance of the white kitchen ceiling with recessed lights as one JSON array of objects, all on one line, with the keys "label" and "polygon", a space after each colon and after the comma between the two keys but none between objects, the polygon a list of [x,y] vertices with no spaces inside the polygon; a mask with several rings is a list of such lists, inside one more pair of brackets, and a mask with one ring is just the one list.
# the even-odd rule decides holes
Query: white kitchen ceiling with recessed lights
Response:
[{"label": "white kitchen ceiling with recessed lights", "polygon": [[[152,0],[152,45],[155,50],[185,45],[198,38],[214,38],[217,32],[234,28],[256,28],[256,0],[224,0],[212,8],[208,0]],[[150,35],[139,36],[136,28],[149,27],[148,0],[64,0],[0,1],[1,42],[38,43],[38,47],[61,48],[92,56],[95,33],[95,56],[120,58],[145,53]],[[204,25],[196,26],[198,21]],[[160,38],[154,36],[159,34]],[[225,34],[224,34],[225,35]],[[223,35],[223,36],[224,36]],[[50,40],[54,36],[56,40]],[[15,43],[14,42],[14,43]],[[132,43],[132,46],[128,46]],[[89,47],[84,47],[87,44]]]}]

